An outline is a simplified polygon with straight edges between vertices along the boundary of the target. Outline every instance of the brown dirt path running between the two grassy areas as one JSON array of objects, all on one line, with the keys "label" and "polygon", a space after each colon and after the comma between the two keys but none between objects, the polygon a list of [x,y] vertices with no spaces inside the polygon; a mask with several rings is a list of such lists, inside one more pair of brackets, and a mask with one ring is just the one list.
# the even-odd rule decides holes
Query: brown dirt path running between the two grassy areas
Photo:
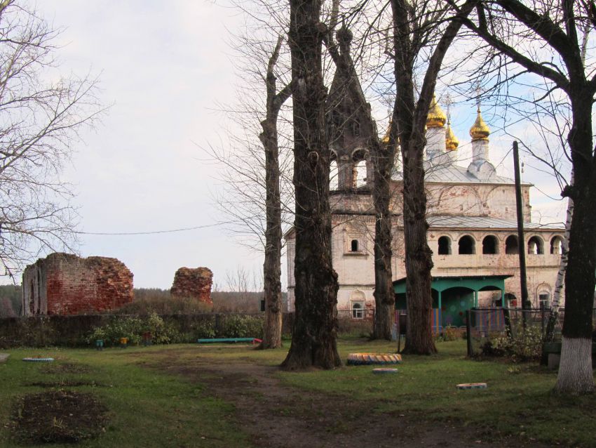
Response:
[{"label": "brown dirt path running between the two grassy areas", "polygon": [[213,357],[180,365],[171,353],[163,355],[153,367],[206,383],[208,395],[233,403],[238,426],[255,447],[545,447],[422,415],[375,412],[374,402],[288,388],[275,367],[251,360],[229,364]]}]

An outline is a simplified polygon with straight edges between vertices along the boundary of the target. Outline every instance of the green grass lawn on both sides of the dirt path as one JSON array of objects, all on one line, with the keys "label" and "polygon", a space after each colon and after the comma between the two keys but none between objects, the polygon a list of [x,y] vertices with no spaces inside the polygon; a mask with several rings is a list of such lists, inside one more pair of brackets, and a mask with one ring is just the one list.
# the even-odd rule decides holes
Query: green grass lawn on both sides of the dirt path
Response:
[{"label": "green grass lawn on both sides of the dirt path", "polygon": [[[286,347],[289,343],[286,343]],[[344,339],[348,353],[395,352],[395,345]],[[372,367],[335,371],[278,372],[287,386],[305,393],[325,393],[330,400],[363,400],[379,418],[399,414],[432,422],[449,420],[459,426],[519,435],[546,444],[596,446],[596,397],[557,397],[551,393],[556,374],[536,364],[473,361],[465,357],[465,341],[438,343],[438,355],[406,356],[398,374],[373,375]],[[105,433],[84,447],[248,447],[239,430],[233,404],[210,397],[209,390],[184,376],[146,364],[184,365],[204,358],[217,362],[279,364],[286,350],[252,350],[248,346],[172,345],[151,348],[95,350],[8,350],[0,364],[0,446],[16,446],[6,423],[16,397],[48,390],[31,383],[88,383],[69,390],[95,393],[109,409]],[[22,357],[55,357],[53,364],[22,362]],[[86,371],[65,372],[49,365],[83,364]],[[75,369],[76,370],[76,369]],[[487,390],[456,390],[457,383],[488,383]],[[62,445],[53,445],[60,447]],[[72,447],[70,445],[64,445]]]}]

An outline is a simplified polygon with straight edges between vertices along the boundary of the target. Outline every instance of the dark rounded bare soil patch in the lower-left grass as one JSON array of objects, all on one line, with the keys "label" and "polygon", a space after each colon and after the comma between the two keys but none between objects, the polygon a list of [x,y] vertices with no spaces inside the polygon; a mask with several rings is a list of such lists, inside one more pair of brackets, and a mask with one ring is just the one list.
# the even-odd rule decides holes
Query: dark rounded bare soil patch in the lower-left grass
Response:
[{"label": "dark rounded bare soil patch in the lower-left grass", "polygon": [[79,442],[104,431],[107,408],[90,393],[51,390],[18,398],[12,430],[21,444]]}]

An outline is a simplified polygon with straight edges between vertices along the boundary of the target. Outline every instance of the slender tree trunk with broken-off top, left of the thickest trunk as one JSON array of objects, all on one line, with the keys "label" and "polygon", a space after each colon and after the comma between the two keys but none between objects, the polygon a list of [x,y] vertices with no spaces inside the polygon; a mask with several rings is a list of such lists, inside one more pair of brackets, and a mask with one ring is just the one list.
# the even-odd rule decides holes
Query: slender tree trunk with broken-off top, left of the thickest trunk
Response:
[{"label": "slender tree trunk with broken-off top, left of the thickest trunk", "polygon": [[280,348],[282,329],[281,301],[281,200],[277,119],[280,107],[289,98],[291,86],[276,93],[276,77],[273,69],[279,57],[282,39],[269,59],[266,75],[266,119],[261,122],[263,132],[259,136],[265,150],[266,228],[265,261],[263,263],[263,289],[265,299],[265,323],[263,341],[259,348]]}]

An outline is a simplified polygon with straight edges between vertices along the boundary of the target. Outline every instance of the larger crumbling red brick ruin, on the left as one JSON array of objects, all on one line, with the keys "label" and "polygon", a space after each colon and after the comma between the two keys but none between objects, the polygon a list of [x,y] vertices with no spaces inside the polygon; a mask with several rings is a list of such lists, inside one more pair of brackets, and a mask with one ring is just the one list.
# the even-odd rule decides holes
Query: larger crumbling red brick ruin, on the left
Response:
[{"label": "larger crumbling red brick ruin, on the left", "polygon": [[74,315],[133,301],[133,273],[116,258],[52,253],[22,275],[22,314]]}]

